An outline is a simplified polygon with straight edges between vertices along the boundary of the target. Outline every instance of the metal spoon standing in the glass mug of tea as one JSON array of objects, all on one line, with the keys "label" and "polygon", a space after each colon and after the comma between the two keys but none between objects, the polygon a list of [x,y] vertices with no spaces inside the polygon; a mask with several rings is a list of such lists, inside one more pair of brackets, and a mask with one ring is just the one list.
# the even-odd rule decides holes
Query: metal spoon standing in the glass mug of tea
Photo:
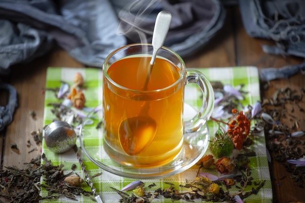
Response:
[{"label": "metal spoon standing in the glass mug of tea", "polygon": [[[147,90],[157,52],[164,43],[170,28],[171,20],[172,15],[170,12],[161,11],[157,15],[152,34],[152,59],[150,61],[150,67],[143,90]],[[120,123],[118,137],[121,147],[128,155],[133,156],[140,153],[146,149],[154,139],[157,131],[157,123],[148,115],[148,110],[149,102],[146,102],[139,115],[127,118]]]}]

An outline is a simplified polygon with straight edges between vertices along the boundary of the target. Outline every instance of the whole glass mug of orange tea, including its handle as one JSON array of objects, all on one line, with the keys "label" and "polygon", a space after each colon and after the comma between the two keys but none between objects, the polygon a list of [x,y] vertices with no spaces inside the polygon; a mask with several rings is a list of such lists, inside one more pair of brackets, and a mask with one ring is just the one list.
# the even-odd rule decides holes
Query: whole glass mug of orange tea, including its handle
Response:
[{"label": "whole glass mug of orange tea, including its handle", "polygon": [[[214,92],[206,76],[186,70],[182,58],[162,47],[150,71],[152,45],[130,44],[103,64],[103,148],[116,162],[135,168],[162,166],[180,153],[183,137],[210,118]],[[184,121],[185,85],[197,84],[202,106]],[[183,153],[183,152],[181,152]]]}]

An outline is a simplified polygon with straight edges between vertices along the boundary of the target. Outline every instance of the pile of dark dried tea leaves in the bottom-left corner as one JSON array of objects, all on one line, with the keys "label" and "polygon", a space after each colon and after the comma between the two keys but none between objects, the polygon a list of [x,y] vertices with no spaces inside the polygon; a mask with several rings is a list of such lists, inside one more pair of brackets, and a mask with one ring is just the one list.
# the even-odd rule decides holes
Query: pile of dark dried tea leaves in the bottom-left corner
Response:
[{"label": "pile of dark dried tea leaves in the bottom-left corner", "polygon": [[[43,159],[44,164],[41,163]],[[11,203],[38,203],[39,200],[54,200],[67,197],[76,200],[78,195],[92,195],[81,187],[71,186],[64,179],[71,174],[63,174],[63,165],[54,166],[44,154],[25,164],[25,168],[8,166],[0,170],[0,197]],[[42,177],[43,182],[40,183]],[[39,195],[41,188],[48,191],[48,195]]]}]

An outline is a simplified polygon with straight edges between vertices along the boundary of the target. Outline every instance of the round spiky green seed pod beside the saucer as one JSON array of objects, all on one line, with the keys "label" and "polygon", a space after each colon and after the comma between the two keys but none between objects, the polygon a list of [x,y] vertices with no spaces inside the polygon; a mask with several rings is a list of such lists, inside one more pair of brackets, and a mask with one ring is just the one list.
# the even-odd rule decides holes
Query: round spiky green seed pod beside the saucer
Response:
[{"label": "round spiky green seed pod beside the saucer", "polygon": [[218,131],[210,143],[210,150],[216,158],[229,157],[234,149],[234,144],[227,133]]}]

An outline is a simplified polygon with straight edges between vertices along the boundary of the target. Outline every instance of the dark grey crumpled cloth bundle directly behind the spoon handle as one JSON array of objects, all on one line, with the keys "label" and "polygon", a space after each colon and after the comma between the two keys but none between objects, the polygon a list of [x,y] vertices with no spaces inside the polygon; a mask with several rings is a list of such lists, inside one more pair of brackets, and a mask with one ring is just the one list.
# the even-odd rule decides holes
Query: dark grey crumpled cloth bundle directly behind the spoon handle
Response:
[{"label": "dark grey crumpled cloth bundle directly behind the spoon handle", "polygon": [[[127,3],[128,2],[128,3]],[[222,28],[226,11],[218,0],[121,0],[112,1],[129,43],[151,42],[154,21],[161,10],[172,14],[164,42],[181,57],[196,53]]]}]

